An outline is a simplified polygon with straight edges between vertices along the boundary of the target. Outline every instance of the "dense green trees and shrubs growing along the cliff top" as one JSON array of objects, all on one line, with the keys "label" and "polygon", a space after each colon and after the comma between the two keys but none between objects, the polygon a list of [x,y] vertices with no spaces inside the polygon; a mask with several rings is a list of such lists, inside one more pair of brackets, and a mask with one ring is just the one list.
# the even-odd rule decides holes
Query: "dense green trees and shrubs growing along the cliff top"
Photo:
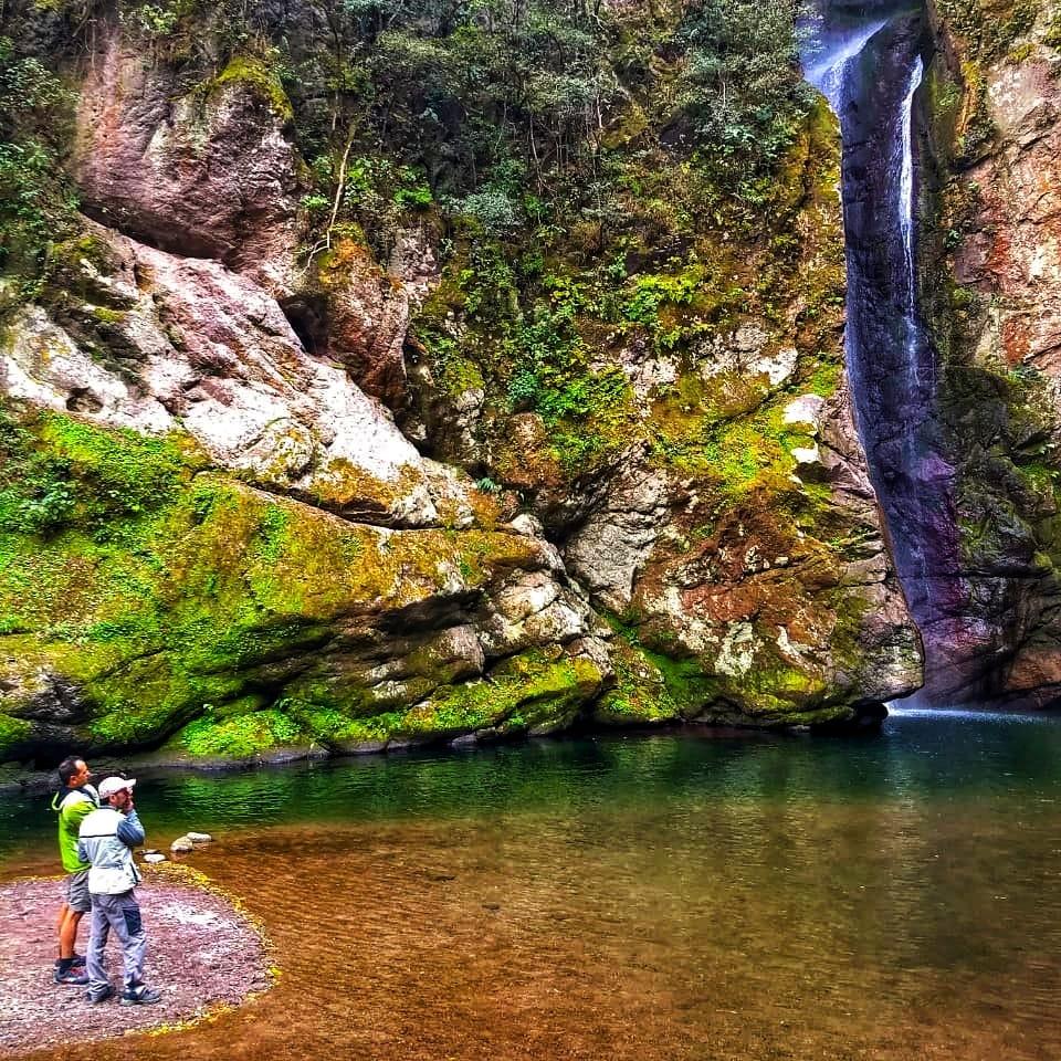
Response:
[{"label": "dense green trees and shrubs growing along the cliff top", "polygon": [[[34,190],[55,179],[66,95],[33,51],[49,36],[54,51],[87,49],[104,13],[78,0],[0,14],[19,39],[0,44],[0,132],[4,199],[19,204],[8,223],[23,243],[66,203]],[[617,181],[661,143],[760,204],[808,105],[788,2],[307,0],[280,12],[158,0],[118,13],[157,61],[206,76],[251,55],[275,73],[322,233],[358,222],[378,238],[433,207],[494,233],[603,221]]]}]

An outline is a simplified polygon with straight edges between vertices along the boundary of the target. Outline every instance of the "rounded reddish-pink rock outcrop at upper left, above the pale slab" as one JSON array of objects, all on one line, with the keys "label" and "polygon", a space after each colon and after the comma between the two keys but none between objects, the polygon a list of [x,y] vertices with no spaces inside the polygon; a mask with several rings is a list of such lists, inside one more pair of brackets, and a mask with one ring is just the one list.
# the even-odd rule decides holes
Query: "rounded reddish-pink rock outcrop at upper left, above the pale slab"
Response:
[{"label": "rounded reddish-pink rock outcrop at upper left, above the pale slab", "polygon": [[116,27],[99,23],[99,40],[77,111],[83,208],[155,246],[284,290],[301,191],[280,86],[239,61],[189,87],[146,63]]}]

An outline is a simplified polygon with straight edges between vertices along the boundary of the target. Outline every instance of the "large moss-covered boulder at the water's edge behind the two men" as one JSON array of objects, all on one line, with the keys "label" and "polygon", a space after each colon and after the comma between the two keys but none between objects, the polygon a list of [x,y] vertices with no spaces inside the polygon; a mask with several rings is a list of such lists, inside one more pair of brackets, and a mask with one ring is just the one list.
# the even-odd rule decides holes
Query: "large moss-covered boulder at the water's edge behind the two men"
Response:
[{"label": "large moss-covered boulder at the water's edge behind the two men", "polygon": [[[3,421],[0,757],[253,758],[563,727],[611,677],[517,527],[355,524],[187,437]],[[41,490],[44,491],[43,495]]]}]

